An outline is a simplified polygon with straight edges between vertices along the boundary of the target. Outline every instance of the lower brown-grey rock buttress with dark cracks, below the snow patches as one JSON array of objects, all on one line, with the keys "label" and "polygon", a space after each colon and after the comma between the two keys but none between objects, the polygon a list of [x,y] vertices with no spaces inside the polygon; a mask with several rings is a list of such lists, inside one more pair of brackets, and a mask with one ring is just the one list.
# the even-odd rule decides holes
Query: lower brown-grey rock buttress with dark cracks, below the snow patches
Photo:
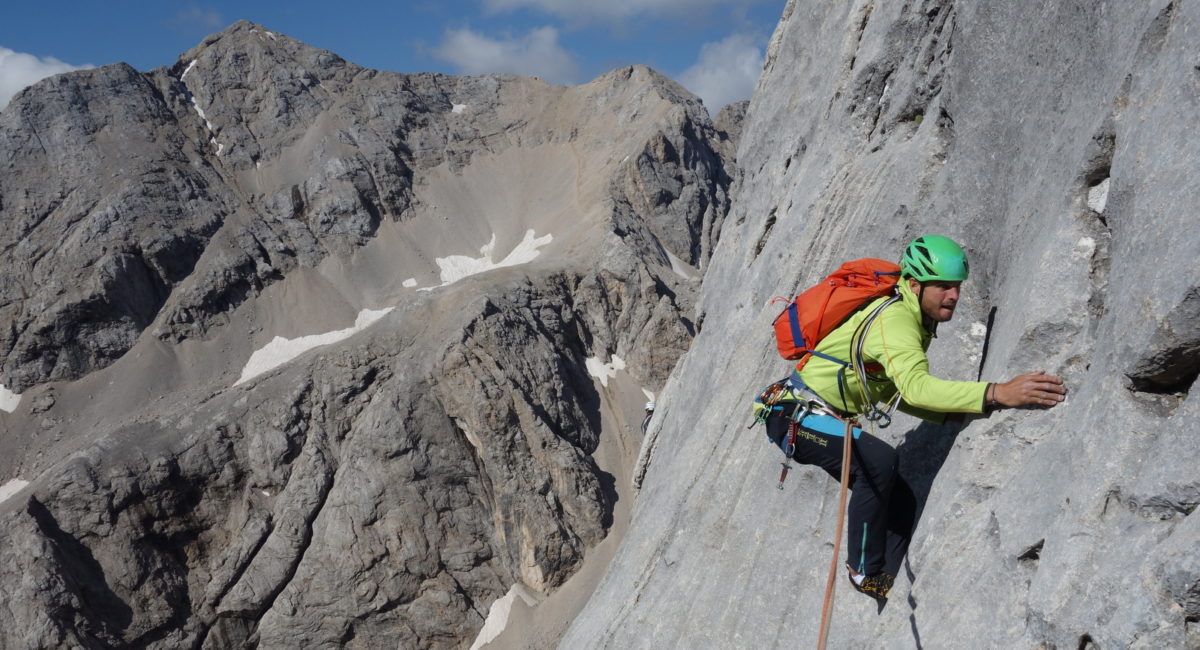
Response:
[{"label": "lower brown-grey rock buttress with dark cracks, below the snow patches", "polygon": [[560,583],[605,534],[581,416],[599,396],[563,373],[562,335],[517,330],[546,300],[529,294],[413,314],[455,332],[421,341],[440,347],[397,326],[82,450],[8,518],[54,552],[34,579],[37,555],[6,553],[23,588],[5,628],[48,646],[456,646],[514,582]]}]

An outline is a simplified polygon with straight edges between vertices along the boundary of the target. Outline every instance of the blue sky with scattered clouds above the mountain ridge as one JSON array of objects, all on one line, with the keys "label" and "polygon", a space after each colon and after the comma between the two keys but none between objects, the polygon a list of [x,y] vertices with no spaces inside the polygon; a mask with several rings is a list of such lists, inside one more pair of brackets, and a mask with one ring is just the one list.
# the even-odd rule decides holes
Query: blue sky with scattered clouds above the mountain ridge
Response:
[{"label": "blue sky with scattered clouds above the mountain ridge", "polygon": [[715,113],[749,98],[785,0],[20,1],[0,14],[0,107],[76,67],[170,65],[239,19],[396,72],[577,84],[644,64]]}]

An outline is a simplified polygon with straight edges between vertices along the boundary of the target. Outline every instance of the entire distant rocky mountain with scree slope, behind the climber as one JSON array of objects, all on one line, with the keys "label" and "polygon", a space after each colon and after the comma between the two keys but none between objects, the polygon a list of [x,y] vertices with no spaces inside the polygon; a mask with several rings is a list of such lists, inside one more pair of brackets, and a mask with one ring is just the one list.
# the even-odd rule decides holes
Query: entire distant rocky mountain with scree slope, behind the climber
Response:
[{"label": "entire distant rocky mountain with scree slope, behind the climber", "polygon": [[644,67],[404,76],[250,23],[14,97],[0,646],[466,648],[560,585],[623,490],[595,453],[637,445],[601,411],[694,333],[734,138]]}]

